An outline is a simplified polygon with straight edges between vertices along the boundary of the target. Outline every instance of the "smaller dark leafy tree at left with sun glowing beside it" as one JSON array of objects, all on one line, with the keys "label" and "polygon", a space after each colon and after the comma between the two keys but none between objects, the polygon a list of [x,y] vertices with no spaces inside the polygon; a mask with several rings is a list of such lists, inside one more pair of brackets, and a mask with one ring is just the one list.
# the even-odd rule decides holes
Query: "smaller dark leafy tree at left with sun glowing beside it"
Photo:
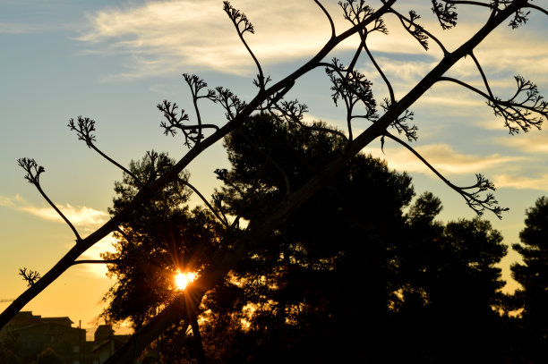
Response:
[{"label": "smaller dark leafy tree at left with sun glowing beside it", "polygon": [[[129,171],[146,181],[173,164],[167,154],[150,152],[141,161],[132,162]],[[137,193],[133,176],[124,174],[123,181],[115,183],[111,214],[123,209]],[[104,255],[116,260],[108,268],[117,281],[105,296],[110,302],[103,313],[107,320],[129,318],[135,328],[140,328],[173,300],[176,271],[200,271],[204,259],[218,248],[217,224],[211,214],[200,207],[188,208],[187,178],[181,174],[158,190],[116,233],[116,251]]]}]

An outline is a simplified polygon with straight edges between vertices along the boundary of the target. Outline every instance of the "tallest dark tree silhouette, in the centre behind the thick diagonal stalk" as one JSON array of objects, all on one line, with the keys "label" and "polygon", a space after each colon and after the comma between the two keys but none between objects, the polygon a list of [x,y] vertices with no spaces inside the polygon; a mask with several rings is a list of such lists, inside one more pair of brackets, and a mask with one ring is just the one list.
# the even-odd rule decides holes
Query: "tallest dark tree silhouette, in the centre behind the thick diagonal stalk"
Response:
[{"label": "tallest dark tree silhouette, in the centre behind the thick diagonal stalk", "polygon": [[[291,128],[259,114],[232,133],[226,145],[233,169],[219,173],[229,209],[245,207],[241,214],[253,224],[288,188],[344,153],[336,132],[319,131],[326,128]],[[244,302],[257,306],[244,335],[244,343],[261,350],[253,362],[364,360],[364,342],[370,349],[373,339],[380,343],[396,291],[402,209],[414,195],[410,182],[359,154],[236,267]]]}]

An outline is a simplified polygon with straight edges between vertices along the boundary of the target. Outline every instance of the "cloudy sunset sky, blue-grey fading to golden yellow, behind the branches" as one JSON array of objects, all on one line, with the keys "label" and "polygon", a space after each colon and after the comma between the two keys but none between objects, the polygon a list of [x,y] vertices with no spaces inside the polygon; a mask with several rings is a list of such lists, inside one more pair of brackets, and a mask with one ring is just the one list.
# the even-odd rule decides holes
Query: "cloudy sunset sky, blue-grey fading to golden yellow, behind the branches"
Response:
[{"label": "cloudy sunset sky, blue-grey fading to golden yellow, behind the branches", "polygon": [[[335,1],[323,1],[346,29]],[[329,23],[312,0],[235,0],[253,22],[256,34],[247,37],[266,74],[279,80],[304,63],[330,35]],[[380,2],[371,2],[379,7]],[[414,9],[421,24],[440,35],[450,50],[473,34],[488,14],[461,6],[458,26],[442,32],[430,2],[398,1],[402,13]],[[548,0],[535,4],[548,6]],[[415,39],[386,18],[390,35],[375,34],[370,46],[396,88],[397,97],[420,80],[441,57],[431,44],[424,52]],[[513,76],[533,80],[548,95],[548,21],[532,12],[525,27],[502,27],[475,51],[491,80],[493,92],[509,97]],[[47,206],[39,192],[23,179],[17,165],[33,157],[44,165],[41,183],[50,199],[69,216],[82,236],[108,218],[113,183],[121,171],[77,140],[67,128],[70,118],[97,121],[97,146],[119,163],[141,158],[147,150],[181,157],[183,140],[166,137],[158,127],[156,109],[163,99],[176,101],[193,117],[189,92],[181,73],[196,73],[210,88],[224,86],[244,100],[256,92],[253,60],[239,42],[220,0],[201,1],[73,1],[0,0],[0,309],[17,297],[25,282],[17,275],[27,267],[47,272],[74,243],[71,230]],[[351,39],[333,54],[348,62],[355,47]],[[373,83],[374,95],[387,96],[381,79],[365,59],[359,69]],[[474,63],[467,58],[451,70],[453,77],[481,87]],[[298,80],[287,98],[309,106],[307,120],[323,120],[343,128],[345,110],[333,106],[330,84],[323,70]],[[202,103],[208,123],[224,123],[223,111]],[[413,108],[419,127],[415,148],[452,182],[469,185],[475,174],[490,178],[502,207],[502,221],[486,214],[505,242],[518,242],[525,210],[548,194],[548,134],[531,131],[510,136],[502,120],[481,97],[454,84],[440,83]],[[355,125],[362,131],[366,124]],[[441,219],[473,217],[458,194],[450,190],[403,148],[387,141],[383,155],[377,140],[366,152],[385,157],[390,167],[408,171],[417,194],[431,190],[441,198]],[[218,186],[214,169],[226,167],[222,145],[210,148],[189,167],[191,182],[208,196]],[[109,247],[102,241],[83,258],[98,258]],[[509,281],[509,265],[518,259],[509,250],[502,267]],[[69,316],[93,326],[101,297],[114,283],[104,267],[72,267],[42,292],[25,310],[42,316]],[[515,288],[509,282],[508,290]]]}]

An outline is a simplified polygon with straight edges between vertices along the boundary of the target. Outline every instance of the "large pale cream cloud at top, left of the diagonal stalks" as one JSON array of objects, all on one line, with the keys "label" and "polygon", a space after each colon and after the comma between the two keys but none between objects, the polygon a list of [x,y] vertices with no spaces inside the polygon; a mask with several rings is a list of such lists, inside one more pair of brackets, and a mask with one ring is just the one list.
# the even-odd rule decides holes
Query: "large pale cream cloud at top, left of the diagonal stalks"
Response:
[{"label": "large pale cream cloud at top, left of the diagonal stalks", "polygon": [[[256,34],[247,41],[263,62],[312,54],[330,34],[329,23],[314,4],[236,3],[255,25]],[[253,61],[218,1],[109,8],[90,14],[89,21],[90,30],[79,40],[101,53],[131,55],[129,69],[118,77],[180,72],[183,65],[229,73],[253,71]]]}]

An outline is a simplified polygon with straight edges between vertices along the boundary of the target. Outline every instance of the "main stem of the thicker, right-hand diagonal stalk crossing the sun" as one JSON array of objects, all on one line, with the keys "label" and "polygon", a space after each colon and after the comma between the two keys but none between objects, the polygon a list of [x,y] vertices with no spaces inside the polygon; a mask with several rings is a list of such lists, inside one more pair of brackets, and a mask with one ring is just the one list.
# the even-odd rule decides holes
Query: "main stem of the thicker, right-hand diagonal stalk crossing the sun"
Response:
[{"label": "main stem of the thicker, right-hand diagonal stalk crossing the sun", "polygon": [[321,190],[321,188],[328,185],[330,179],[338,173],[350,157],[355,156],[355,154],[359,153],[360,150],[370,144],[372,140],[381,136],[386,129],[390,127],[390,124],[393,123],[394,120],[397,120],[400,114],[405,113],[417,99],[422,97],[426,90],[430,89],[438,80],[440,80],[442,75],[450,70],[450,67],[469,54],[469,52],[477,47],[477,45],[479,45],[492,30],[497,28],[502,21],[507,20],[509,16],[516,12],[516,9],[522,4],[523,2],[519,2],[519,4],[517,2],[513,6],[510,5],[504,9],[504,11],[501,11],[496,16],[493,16],[481,30],[469,38],[461,47],[458,47],[454,52],[447,54],[414,89],[392,105],[376,123],[373,123],[371,127],[355,138],[355,140],[350,143],[349,148],[347,148],[347,153],[345,155],[335,157],[329,164],[325,165],[321,171],[314,174],[312,179],[288,195],[286,199],[278,204],[268,217],[260,223],[250,226],[248,232],[244,236],[231,243],[230,245],[233,249],[228,250],[224,255],[218,257],[217,261],[208,267],[201,277],[187,288],[187,290],[192,292],[190,295],[193,297],[193,301],[185,301],[185,294],[188,293],[181,293],[179,297],[169,304],[157,317],[152,318],[147,325],[143,326],[141,331],[135,333],[130,342],[126,343],[117,351],[115,356],[110,358],[107,363],[131,362],[131,360],[138,356],[148,343],[150,343],[151,340],[154,340],[158,334],[161,334],[167,327],[182,320],[184,318],[185,309],[183,306],[185,303],[190,303],[197,307],[203,294],[218,284],[227,272],[232,267],[235,267],[235,264],[243,258],[249,250],[252,250],[257,244],[260,244],[260,241],[268,236],[279,224],[283,223],[288,216],[291,216],[291,214],[293,214],[304,201],[311,198],[316,191]]}]

